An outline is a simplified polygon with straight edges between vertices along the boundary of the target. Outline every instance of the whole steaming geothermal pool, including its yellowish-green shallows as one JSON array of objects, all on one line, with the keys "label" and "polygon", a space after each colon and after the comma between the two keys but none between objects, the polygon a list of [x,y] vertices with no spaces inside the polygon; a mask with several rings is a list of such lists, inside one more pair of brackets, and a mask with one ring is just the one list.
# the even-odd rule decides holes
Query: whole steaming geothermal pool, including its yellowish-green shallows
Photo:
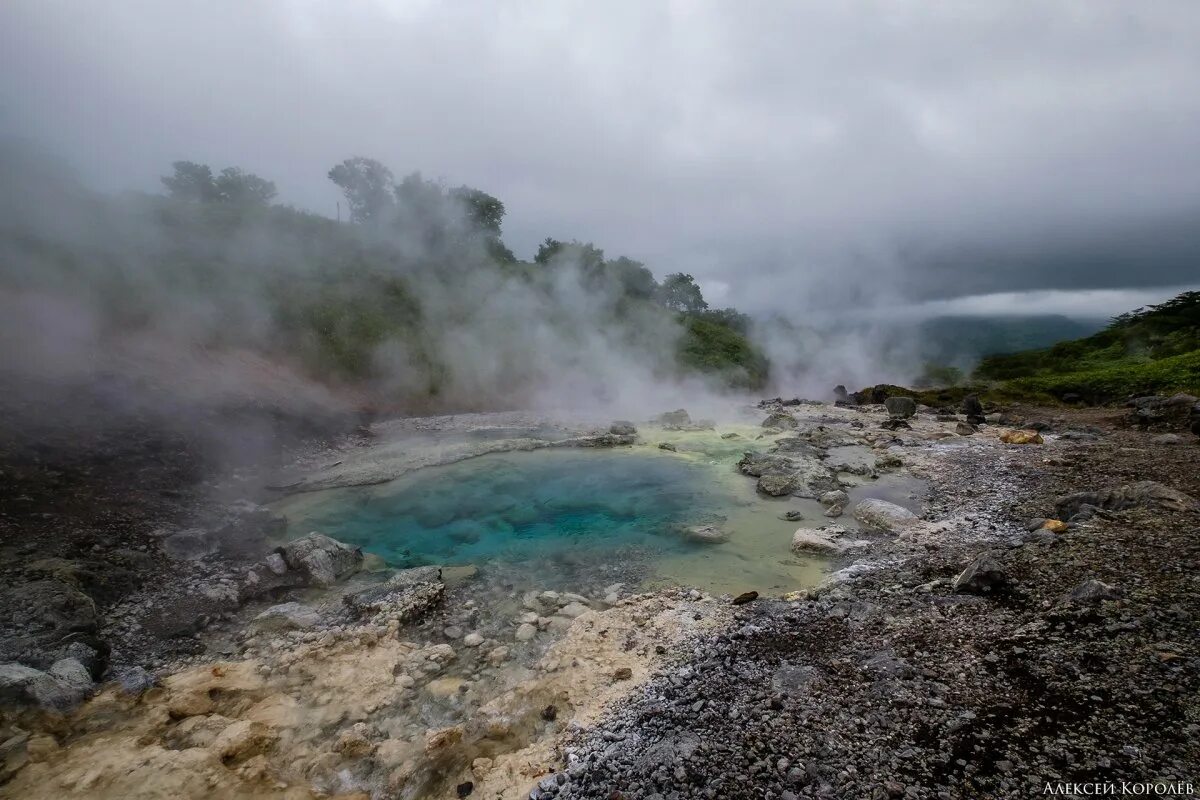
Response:
[{"label": "whole steaming geothermal pool, including its yellowish-green shallows", "polygon": [[[756,495],[736,471],[745,439],[679,437],[678,453],[539,450],[480,456],[371,487],[330,489],[284,501],[293,535],[319,530],[360,546],[390,566],[474,566],[514,587],[577,591],[581,584],[680,584],[712,591],[788,591],[826,572],[791,553],[797,527],[830,522],[814,500]],[[884,477],[852,499],[907,505],[911,486]],[[889,483],[890,481],[890,483]],[[806,522],[786,522],[785,511]],[[852,527],[847,517],[838,521]],[[728,533],[721,543],[690,540],[690,527]]]}]

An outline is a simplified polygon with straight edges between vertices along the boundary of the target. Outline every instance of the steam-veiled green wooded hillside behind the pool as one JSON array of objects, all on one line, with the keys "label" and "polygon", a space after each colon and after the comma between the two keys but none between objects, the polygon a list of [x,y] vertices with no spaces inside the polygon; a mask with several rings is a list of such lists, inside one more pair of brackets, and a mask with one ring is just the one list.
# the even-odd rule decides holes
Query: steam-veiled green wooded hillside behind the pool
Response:
[{"label": "steam-veiled green wooded hillside behind the pool", "polygon": [[766,383],[745,318],[709,311],[690,275],[659,283],[556,239],[520,260],[498,198],[397,181],[372,158],[328,173],[346,222],[274,204],[275,185],[236,167],[179,161],[166,196],[121,197],[23,152],[0,149],[0,289],[71,302],[100,338],[247,349],[426,408],[517,403],[559,378],[604,386],[634,365]]}]

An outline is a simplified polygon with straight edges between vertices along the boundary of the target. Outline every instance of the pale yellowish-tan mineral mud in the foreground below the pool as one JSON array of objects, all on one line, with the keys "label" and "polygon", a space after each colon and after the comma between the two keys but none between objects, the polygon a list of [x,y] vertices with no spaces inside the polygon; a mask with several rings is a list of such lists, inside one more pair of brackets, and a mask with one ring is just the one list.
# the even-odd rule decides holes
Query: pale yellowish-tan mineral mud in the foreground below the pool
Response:
[{"label": "pale yellowish-tan mineral mud in the foreground below the pool", "polygon": [[[31,763],[4,796],[288,798],[526,796],[556,769],[571,729],[721,627],[728,606],[698,593],[634,597],[571,624],[534,669],[466,721],[390,735],[414,693],[455,692],[450,645],[421,646],[396,631],[359,627],[313,642],[278,637],[253,658],[188,669],[140,698],[109,688],[36,735]],[[425,685],[414,664],[445,670]],[[547,714],[546,709],[554,711]],[[547,718],[553,717],[553,718]],[[59,746],[65,741],[65,746]]]}]

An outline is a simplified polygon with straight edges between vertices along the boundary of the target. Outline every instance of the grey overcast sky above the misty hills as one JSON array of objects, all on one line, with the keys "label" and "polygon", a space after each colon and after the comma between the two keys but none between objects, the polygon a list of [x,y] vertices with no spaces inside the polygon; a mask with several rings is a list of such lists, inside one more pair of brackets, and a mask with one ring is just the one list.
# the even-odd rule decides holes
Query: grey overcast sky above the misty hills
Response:
[{"label": "grey overcast sky above the misty hills", "polygon": [[373,156],[749,311],[1200,283],[1195,0],[4,0],[0,132],[330,216]]}]

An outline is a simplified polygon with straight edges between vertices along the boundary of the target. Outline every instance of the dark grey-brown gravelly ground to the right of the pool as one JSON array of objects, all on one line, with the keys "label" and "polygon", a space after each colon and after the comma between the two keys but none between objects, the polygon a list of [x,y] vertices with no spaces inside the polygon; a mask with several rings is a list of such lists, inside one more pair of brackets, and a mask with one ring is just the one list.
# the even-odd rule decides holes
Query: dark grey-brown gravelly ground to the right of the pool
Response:
[{"label": "dark grey-brown gravelly ground to the right of the pool", "polygon": [[1118,411],[1013,415],[1048,444],[925,459],[943,534],[798,602],[742,606],[530,796],[1194,792],[1200,509],[1159,493],[1061,534],[1042,521],[1063,495],[1138,481],[1200,497],[1200,447]]}]

